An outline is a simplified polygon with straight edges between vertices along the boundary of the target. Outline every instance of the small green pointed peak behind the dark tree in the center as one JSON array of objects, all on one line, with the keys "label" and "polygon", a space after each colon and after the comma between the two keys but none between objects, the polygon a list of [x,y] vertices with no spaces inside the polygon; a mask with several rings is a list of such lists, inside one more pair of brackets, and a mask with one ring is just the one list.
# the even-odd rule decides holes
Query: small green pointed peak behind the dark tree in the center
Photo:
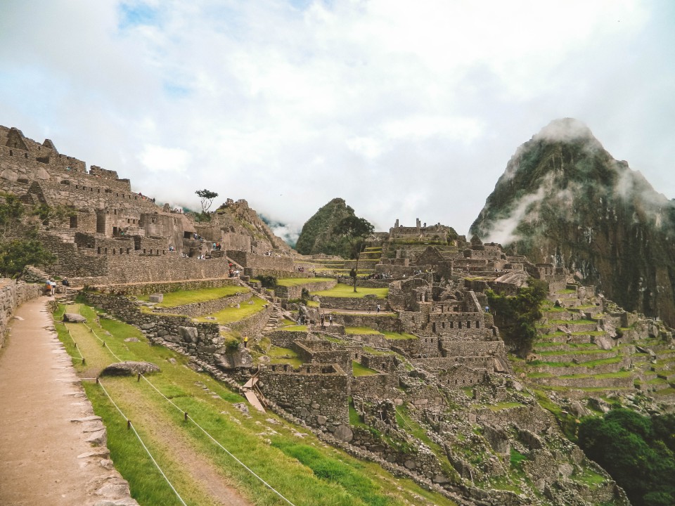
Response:
[{"label": "small green pointed peak behind the dark tree in the center", "polygon": [[333,228],[343,218],[354,216],[354,209],[341,198],[334,198],[311,216],[302,226],[295,249],[301,254],[325,253],[349,258],[345,242],[333,235]]}]

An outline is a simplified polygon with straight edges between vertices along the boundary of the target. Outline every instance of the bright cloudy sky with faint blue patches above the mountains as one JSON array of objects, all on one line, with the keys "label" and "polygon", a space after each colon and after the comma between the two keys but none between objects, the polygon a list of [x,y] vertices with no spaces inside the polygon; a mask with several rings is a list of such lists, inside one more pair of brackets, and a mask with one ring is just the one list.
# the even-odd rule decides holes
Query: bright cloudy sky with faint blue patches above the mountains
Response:
[{"label": "bright cloudy sky with faint blue patches above the mountains", "polygon": [[586,123],[675,197],[675,2],[3,0],[0,124],[198,207],[342,197],[466,233],[518,145]]}]

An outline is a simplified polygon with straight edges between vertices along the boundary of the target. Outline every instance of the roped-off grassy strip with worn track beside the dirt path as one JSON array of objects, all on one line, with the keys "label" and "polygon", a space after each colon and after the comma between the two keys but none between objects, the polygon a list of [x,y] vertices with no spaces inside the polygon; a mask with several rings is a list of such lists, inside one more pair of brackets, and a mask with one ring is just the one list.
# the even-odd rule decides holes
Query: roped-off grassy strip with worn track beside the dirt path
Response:
[{"label": "roped-off grassy strip with worn track beside the dirt path", "polygon": [[[59,310],[63,312],[63,307]],[[240,467],[192,422],[198,422],[213,438],[245,465],[259,474],[296,506],[452,506],[441,495],[399,479],[371,462],[350,457],[314,438],[301,427],[288,424],[274,413],[250,410],[245,416],[233,403],[245,402],[238,394],[211,377],[187,368],[189,359],[162,346],[149,346],[135,327],[117,320],[101,318],[87,306],[70,306],[81,313],[97,335],[79,323],[56,323],[59,339],[66,351],[76,356],[75,345],[86,364],[74,360],[80,377],[94,377],[105,365],[122,360],[148,361],[160,365],[161,372],[148,380],[179,407],[174,408],[150,385],[136,377],[104,377],[103,386],[120,410],[134,424],[148,450],[188,505],[217,506],[231,501],[227,494],[236,490],[243,502],[255,506],[281,506],[288,503],[266,488],[250,472]],[[106,332],[109,332],[106,333]],[[124,342],[137,337],[139,342]],[[129,481],[131,495],[141,506],[179,506],[180,502],[134,434],[117,412],[101,386],[85,382],[94,411],[108,429],[108,448],[115,467]],[[300,434],[300,435],[296,435]]]}]

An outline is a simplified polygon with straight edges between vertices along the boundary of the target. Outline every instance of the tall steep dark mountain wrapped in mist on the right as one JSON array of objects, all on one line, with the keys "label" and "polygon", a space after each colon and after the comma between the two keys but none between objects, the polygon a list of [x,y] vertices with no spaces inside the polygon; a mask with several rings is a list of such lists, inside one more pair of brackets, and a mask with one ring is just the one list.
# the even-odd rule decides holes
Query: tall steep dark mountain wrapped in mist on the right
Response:
[{"label": "tall steep dark mountain wrapped in mist on the right", "polygon": [[675,325],[675,200],[575,119],[518,148],[470,231]]}]

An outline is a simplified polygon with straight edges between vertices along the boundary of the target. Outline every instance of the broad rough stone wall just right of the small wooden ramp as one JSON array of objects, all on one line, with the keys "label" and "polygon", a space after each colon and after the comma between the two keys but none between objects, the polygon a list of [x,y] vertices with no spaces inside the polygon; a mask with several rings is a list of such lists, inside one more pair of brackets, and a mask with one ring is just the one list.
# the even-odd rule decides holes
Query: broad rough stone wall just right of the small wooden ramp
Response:
[{"label": "broad rough stone wall just right of the small wooden ramp", "polygon": [[330,432],[349,424],[348,377],[338,365],[306,364],[298,369],[269,365],[260,370],[263,394],[312,427]]}]

